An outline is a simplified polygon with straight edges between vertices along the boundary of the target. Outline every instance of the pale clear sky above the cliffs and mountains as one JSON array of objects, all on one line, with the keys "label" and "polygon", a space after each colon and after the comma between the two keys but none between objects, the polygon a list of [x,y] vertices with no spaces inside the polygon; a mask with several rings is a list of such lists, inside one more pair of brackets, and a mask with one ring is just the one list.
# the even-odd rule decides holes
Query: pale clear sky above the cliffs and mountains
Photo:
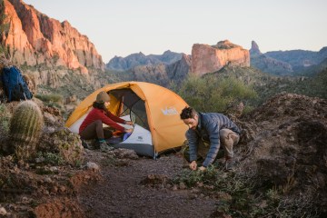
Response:
[{"label": "pale clear sky above the cliffs and mountains", "polygon": [[116,56],[229,40],[250,49],[319,51],[327,46],[326,0],[23,0],[67,20],[95,45],[104,63]]}]

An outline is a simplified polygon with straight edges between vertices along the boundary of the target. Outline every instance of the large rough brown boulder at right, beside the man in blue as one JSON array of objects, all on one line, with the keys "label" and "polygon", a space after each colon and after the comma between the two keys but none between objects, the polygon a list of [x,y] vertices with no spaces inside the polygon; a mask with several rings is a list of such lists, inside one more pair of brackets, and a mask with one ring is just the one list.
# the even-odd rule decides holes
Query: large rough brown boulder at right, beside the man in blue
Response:
[{"label": "large rough brown boulder at right, beside the man in blue", "polygon": [[278,94],[239,125],[239,170],[255,187],[327,208],[327,100]]}]

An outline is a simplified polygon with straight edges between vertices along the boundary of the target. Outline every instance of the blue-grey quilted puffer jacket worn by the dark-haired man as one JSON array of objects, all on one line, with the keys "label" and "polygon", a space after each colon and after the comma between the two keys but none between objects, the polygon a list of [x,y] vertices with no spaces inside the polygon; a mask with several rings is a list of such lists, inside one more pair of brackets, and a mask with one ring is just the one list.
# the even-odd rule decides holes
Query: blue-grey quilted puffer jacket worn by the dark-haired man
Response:
[{"label": "blue-grey quilted puffer jacket worn by the dark-haired man", "polygon": [[209,152],[203,162],[203,166],[207,167],[213,163],[216,158],[220,147],[221,129],[230,129],[236,134],[241,134],[240,129],[233,123],[227,116],[218,113],[199,113],[199,124],[196,130],[189,129],[186,132],[186,138],[190,146],[190,161],[197,159],[197,146],[199,140],[210,142]]}]

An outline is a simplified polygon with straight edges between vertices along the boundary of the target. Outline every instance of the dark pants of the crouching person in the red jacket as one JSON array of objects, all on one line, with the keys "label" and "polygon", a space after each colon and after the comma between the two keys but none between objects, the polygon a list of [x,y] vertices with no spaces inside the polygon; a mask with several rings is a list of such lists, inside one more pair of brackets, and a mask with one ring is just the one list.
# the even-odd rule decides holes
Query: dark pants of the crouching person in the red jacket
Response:
[{"label": "dark pants of the crouching person in the red jacket", "polygon": [[81,138],[89,139],[107,139],[113,136],[113,132],[103,127],[101,120],[96,120],[92,124],[87,125],[80,133]]}]

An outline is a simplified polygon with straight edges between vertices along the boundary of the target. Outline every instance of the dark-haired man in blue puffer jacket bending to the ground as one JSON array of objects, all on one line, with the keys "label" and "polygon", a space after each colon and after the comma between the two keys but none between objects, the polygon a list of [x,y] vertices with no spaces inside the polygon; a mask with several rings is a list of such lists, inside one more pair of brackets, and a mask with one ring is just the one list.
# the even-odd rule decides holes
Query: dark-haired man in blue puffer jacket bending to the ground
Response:
[{"label": "dark-haired man in blue puffer jacket bending to the ground", "polygon": [[192,107],[185,107],[180,116],[183,123],[189,126],[186,138],[190,148],[191,170],[198,168],[196,163],[198,154],[204,159],[199,170],[205,170],[213,163],[220,144],[224,150],[226,170],[232,170],[233,145],[238,144],[241,134],[237,125],[223,114],[197,113]]}]

